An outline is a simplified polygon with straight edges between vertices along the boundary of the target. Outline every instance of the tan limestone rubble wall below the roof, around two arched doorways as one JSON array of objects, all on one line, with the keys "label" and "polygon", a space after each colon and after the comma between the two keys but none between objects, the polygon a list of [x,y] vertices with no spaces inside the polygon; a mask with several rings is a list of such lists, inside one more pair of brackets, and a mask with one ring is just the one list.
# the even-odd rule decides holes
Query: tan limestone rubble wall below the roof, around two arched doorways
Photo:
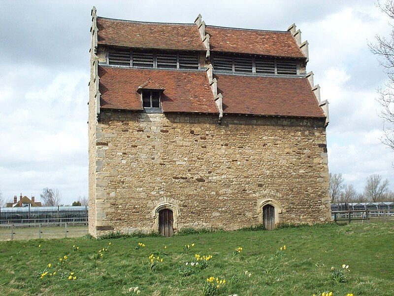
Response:
[{"label": "tan limestone rubble wall below the roof, around two arched doorways", "polygon": [[101,110],[90,232],[156,230],[165,207],[175,231],[256,225],[266,203],[276,222],[329,221],[324,124],[225,115],[218,125],[217,115]]}]

